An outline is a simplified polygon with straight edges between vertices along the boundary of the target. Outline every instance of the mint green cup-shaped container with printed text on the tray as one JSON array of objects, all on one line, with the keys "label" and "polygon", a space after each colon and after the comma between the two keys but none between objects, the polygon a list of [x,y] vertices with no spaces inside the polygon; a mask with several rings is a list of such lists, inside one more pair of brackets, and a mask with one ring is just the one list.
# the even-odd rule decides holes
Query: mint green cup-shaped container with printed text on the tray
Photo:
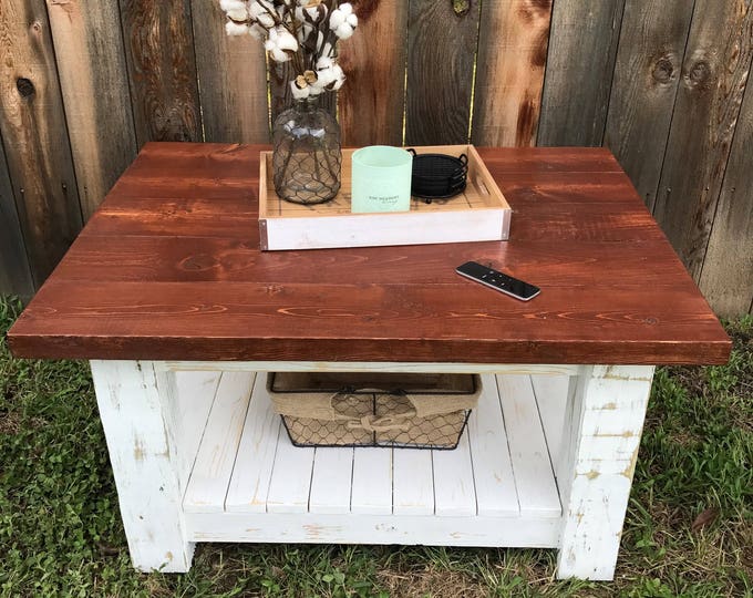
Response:
[{"label": "mint green cup-shaped container with printed text on the tray", "polygon": [[411,209],[413,155],[390,145],[370,145],[353,152],[351,212]]}]

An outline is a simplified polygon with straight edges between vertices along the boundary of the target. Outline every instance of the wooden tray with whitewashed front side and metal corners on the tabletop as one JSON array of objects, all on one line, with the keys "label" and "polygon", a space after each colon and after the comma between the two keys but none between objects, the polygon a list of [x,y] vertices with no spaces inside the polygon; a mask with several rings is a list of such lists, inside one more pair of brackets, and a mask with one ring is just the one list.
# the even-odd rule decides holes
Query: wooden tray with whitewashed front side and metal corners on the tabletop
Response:
[{"label": "wooden tray with whitewashed front side and metal corners on the tabletop", "polygon": [[275,193],[272,153],[261,152],[259,233],[262,250],[322,249],[506,240],[512,209],[473,145],[415,147],[419,154],[468,156],[465,192],[451,199],[411,198],[410,212],[351,214],[351,155],[342,151],[342,186],[331,202],[303,206]]}]

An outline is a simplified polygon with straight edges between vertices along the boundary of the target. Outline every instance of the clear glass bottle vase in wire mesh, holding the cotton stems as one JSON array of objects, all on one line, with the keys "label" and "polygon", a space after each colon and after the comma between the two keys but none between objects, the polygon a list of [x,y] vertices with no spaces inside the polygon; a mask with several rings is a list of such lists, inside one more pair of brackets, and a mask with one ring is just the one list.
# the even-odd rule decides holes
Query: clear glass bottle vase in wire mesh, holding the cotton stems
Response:
[{"label": "clear glass bottle vase in wire mesh, holding the cotton stems", "polygon": [[272,127],[277,195],[295,204],[329,202],[340,190],[340,126],[318,97],[296,100]]}]

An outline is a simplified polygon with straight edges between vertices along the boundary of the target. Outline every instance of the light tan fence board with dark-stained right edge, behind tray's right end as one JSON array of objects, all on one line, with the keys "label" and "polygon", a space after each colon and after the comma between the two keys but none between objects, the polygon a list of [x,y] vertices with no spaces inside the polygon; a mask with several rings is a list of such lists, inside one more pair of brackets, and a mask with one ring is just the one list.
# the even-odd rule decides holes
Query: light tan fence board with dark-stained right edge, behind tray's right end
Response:
[{"label": "light tan fence board with dark-stained right edge, behind tray's right end", "polygon": [[473,114],[476,145],[533,145],[540,111],[550,0],[485,0]]}]

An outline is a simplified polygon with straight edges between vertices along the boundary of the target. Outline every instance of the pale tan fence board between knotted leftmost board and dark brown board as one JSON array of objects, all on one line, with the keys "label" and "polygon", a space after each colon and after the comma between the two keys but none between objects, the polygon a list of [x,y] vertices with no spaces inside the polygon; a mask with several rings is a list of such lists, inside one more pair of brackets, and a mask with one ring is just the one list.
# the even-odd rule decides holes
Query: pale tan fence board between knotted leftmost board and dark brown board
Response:
[{"label": "pale tan fence board between knotted leftmost board and dark brown board", "polygon": [[136,156],[117,4],[47,0],[84,218]]}]

